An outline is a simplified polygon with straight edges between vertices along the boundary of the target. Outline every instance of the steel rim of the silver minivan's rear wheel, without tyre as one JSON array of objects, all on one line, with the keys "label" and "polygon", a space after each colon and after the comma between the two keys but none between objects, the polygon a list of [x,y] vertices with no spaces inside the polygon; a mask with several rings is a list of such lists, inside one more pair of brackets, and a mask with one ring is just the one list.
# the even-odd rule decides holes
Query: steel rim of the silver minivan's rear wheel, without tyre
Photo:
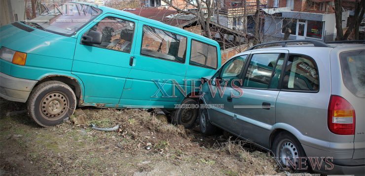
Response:
[{"label": "steel rim of the silver minivan's rear wheel, without tyre", "polygon": [[[279,153],[277,156],[279,156],[279,159],[285,158],[283,160],[281,160],[282,164],[284,164],[285,166],[291,167],[292,165],[298,166],[298,149],[296,148],[296,146],[293,144],[292,141],[290,140],[282,140],[279,142],[278,145],[280,148],[279,149]],[[288,160],[290,160],[293,164],[289,163],[289,161],[286,159],[288,158]]]}]

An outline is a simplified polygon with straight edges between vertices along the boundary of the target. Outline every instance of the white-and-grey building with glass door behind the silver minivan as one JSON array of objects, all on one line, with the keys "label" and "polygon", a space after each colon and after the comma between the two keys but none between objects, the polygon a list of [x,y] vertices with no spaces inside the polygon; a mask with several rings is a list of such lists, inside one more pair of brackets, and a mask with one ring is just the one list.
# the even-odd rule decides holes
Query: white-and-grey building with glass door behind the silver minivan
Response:
[{"label": "white-and-grey building with glass door behind the silver minivan", "polygon": [[[264,38],[282,40],[290,29],[289,39],[332,41],[336,36],[334,0],[268,0],[264,9]],[[342,26],[347,25],[349,12],[342,14]]]}]

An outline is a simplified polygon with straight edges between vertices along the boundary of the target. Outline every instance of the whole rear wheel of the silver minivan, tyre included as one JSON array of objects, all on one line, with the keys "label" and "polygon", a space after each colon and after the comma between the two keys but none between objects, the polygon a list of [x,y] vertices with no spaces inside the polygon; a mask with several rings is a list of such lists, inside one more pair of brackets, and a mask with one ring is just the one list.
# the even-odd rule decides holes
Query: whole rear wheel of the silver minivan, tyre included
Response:
[{"label": "whole rear wheel of the silver minivan, tyre included", "polygon": [[[305,165],[299,166],[299,159],[306,157],[306,155],[300,142],[292,134],[287,132],[279,133],[275,137],[272,146],[275,157],[278,157],[278,161],[284,168],[290,168],[296,173],[311,171],[307,159]],[[302,159],[303,161],[304,159]]]}]

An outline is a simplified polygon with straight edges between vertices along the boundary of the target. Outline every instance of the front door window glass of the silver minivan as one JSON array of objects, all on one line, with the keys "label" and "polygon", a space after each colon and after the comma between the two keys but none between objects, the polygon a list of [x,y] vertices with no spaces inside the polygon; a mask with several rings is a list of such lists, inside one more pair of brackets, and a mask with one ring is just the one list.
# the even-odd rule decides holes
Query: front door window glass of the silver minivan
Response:
[{"label": "front door window glass of the silver minivan", "polygon": [[[247,55],[238,56],[231,60],[229,60],[224,66],[222,67],[222,70],[220,71],[220,85],[224,86],[225,80],[228,80],[228,86],[231,86],[231,81],[233,79],[240,79],[241,77],[241,71],[243,69],[243,64],[245,63]],[[236,86],[239,82],[234,82]]]}]

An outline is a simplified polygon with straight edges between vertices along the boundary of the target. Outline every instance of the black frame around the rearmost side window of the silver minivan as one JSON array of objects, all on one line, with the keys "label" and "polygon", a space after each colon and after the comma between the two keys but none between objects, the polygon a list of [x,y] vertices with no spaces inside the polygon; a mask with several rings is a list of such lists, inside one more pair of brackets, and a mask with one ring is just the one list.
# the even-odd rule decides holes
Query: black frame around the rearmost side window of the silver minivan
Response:
[{"label": "black frame around the rearmost side window of the silver minivan", "polygon": [[297,55],[297,56],[304,56],[304,57],[307,57],[307,58],[309,58],[309,59],[311,59],[313,62],[314,62],[314,65],[316,66],[316,68],[317,68],[317,71],[318,71],[318,82],[319,82],[319,85],[318,85],[318,90],[316,90],[316,91],[312,91],[312,90],[293,90],[293,89],[284,89],[283,87],[284,87],[284,76],[281,76],[281,81],[279,81],[279,83],[280,83],[280,91],[284,91],[284,92],[299,92],[299,93],[318,93],[319,91],[320,91],[320,89],[321,89],[321,80],[320,80],[320,71],[319,71],[319,69],[318,69],[318,64],[317,64],[317,62],[312,58],[312,57],[310,57],[310,56],[308,56],[308,55],[305,55],[305,54],[296,54],[296,53],[289,53],[288,54],[288,57],[284,60],[284,63],[285,63],[285,65],[284,65],[284,63],[283,63],[283,65],[285,66],[284,67],[284,69],[282,70],[282,72],[280,73],[281,75],[284,75],[284,73],[285,73],[285,70],[287,69],[287,64],[288,64],[288,61],[289,61],[289,57],[290,57],[290,55]]}]

